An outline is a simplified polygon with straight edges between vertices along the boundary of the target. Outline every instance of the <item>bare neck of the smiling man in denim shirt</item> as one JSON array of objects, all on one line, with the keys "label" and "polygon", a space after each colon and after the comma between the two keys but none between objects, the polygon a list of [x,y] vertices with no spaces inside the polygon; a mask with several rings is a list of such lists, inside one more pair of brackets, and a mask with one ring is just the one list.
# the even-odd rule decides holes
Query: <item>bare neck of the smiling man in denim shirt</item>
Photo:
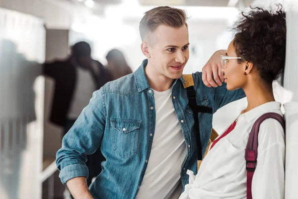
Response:
[{"label": "bare neck of the smiling man in denim shirt", "polygon": [[174,80],[159,74],[153,67],[148,65],[145,68],[145,74],[151,89],[155,91],[167,91],[171,88]]}]

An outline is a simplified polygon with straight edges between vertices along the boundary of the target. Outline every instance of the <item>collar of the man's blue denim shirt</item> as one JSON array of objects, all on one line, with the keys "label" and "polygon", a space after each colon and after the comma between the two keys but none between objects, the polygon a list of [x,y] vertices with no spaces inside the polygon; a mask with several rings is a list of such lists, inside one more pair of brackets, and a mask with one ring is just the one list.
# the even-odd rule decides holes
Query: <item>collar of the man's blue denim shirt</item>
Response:
[{"label": "collar of the man's blue denim shirt", "polygon": [[[137,88],[138,88],[138,92],[142,92],[145,89],[150,88],[150,85],[148,83],[148,80],[147,80],[147,77],[146,77],[146,74],[145,74],[145,67],[147,66],[147,64],[148,64],[148,59],[145,59],[142,62],[141,66],[134,73],[136,85],[137,85]],[[177,83],[177,80],[178,79],[174,80],[173,85],[175,85]],[[179,80],[182,83],[185,84],[185,81],[184,81],[182,76],[179,78]]]}]

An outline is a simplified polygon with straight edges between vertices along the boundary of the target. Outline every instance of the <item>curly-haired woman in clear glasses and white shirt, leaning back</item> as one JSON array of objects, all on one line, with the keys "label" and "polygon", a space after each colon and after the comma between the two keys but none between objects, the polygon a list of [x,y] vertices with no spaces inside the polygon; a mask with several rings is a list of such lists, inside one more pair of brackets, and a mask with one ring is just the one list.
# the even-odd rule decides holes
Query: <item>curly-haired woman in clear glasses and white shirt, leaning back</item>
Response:
[{"label": "curly-haired woman in clear glasses and white shirt, leaning back", "polygon": [[[211,145],[196,176],[180,199],[245,199],[245,148],[254,122],[266,112],[281,112],[272,82],[284,72],[286,14],[256,7],[242,12],[234,39],[222,57],[227,90],[243,89],[248,105]],[[285,134],[275,119],[261,123],[257,166],[252,179],[253,199],[283,199],[285,186]]]}]

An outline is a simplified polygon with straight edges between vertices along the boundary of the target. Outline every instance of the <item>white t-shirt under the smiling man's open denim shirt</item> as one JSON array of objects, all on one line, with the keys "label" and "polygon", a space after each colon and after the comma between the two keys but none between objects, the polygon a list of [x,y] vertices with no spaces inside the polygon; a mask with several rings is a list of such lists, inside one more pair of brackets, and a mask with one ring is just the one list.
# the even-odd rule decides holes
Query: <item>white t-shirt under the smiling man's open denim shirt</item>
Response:
[{"label": "white t-shirt under the smiling man's open denim shirt", "polygon": [[148,166],[137,199],[178,199],[186,144],[172,102],[172,88],[154,92],[156,124]]}]

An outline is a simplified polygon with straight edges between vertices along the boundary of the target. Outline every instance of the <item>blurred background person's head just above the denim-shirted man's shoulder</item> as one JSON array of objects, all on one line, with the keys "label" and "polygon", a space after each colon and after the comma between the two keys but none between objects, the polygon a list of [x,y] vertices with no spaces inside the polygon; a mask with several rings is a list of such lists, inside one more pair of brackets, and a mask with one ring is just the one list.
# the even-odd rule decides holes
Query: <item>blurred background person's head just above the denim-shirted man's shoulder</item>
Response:
[{"label": "blurred background person's head just above the denim-shirted man's shoulder", "polygon": [[117,80],[132,73],[132,69],[128,66],[120,50],[110,50],[106,59],[108,62],[107,69],[110,71],[113,80]]}]

